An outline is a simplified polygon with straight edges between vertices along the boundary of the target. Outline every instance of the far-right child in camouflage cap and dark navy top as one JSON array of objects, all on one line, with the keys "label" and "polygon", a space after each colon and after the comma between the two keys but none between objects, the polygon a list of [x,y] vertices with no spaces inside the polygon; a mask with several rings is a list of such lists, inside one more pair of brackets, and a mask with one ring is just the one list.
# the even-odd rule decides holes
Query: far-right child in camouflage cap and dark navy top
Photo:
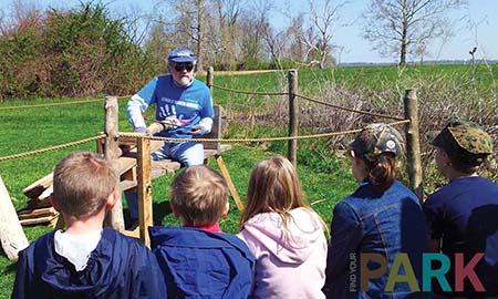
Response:
[{"label": "far-right child in camouflage cap and dark navy top", "polygon": [[[477,174],[479,166],[492,153],[492,138],[475,123],[452,120],[429,143],[436,147],[435,161],[439,173],[449,181],[430,194],[423,205],[429,250],[442,251],[452,261],[446,278],[454,292],[446,292],[447,288],[436,289],[436,292],[449,298],[496,298],[498,185]],[[480,252],[484,256],[479,257]],[[474,270],[478,278],[465,279],[465,285],[458,288],[458,281],[455,281],[456,254],[464,255],[464,265],[476,262]],[[456,292],[457,289],[460,291]]]}]

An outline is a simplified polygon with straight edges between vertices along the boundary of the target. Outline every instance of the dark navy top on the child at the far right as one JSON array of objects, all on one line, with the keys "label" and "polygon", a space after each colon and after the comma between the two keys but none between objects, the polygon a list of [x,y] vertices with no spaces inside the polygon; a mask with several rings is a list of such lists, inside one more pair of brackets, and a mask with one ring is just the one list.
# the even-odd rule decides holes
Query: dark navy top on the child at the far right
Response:
[{"label": "dark navy top on the child at the far right", "polygon": [[[498,297],[498,185],[485,177],[458,177],[427,197],[423,205],[430,239],[443,239],[442,251],[450,260],[446,279],[454,292],[435,292],[461,298]],[[484,257],[474,267],[486,290],[476,291],[469,279],[464,291],[456,291],[455,255],[464,255],[464,265],[477,254]]]}]

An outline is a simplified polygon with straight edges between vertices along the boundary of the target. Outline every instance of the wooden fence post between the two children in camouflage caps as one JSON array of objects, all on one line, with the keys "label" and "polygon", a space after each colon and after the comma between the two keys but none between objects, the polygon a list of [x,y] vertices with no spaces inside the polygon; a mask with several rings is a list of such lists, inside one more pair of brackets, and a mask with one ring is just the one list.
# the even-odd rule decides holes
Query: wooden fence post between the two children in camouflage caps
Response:
[{"label": "wooden fence post between the two children in camouflage caps", "polygon": [[409,188],[423,202],[421,141],[418,133],[418,100],[416,90],[406,90],[404,97],[406,133],[406,166],[408,171]]}]

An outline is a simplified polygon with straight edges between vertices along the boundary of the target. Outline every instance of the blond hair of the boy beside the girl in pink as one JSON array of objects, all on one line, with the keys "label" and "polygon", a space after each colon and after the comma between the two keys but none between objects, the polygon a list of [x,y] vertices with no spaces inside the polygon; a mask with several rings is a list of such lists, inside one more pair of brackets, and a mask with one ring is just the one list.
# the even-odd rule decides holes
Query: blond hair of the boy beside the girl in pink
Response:
[{"label": "blond hair of the boy beside the girl in pink", "polygon": [[228,185],[220,174],[208,166],[195,165],[173,181],[169,196],[184,225],[212,225],[226,210]]}]

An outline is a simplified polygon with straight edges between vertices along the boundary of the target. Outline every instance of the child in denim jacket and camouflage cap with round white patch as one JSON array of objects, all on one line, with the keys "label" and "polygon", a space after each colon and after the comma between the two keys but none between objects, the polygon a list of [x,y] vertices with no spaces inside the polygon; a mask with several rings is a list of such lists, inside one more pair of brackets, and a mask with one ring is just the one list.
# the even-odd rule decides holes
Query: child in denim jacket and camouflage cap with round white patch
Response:
[{"label": "child in denim jacket and camouflage cap with round white patch", "polygon": [[[324,287],[326,297],[413,298],[413,292],[419,289],[417,282],[422,278],[426,233],[418,198],[395,178],[403,138],[390,125],[371,124],[350,143],[347,153],[360,186],[333,210]],[[369,271],[385,267],[385,272],[369,279],[367,286],[352,280],[352,277],[357,280],[362,277],[360,266],[351,267],[352,260],[360,264],[362,254],[375,254],[386,261],[367,262]],[[388,287],[387,278],[391,270],[395,270],[397,254],[408,256],[412,274],[418,281],[413,279],[409,283]]]}]

